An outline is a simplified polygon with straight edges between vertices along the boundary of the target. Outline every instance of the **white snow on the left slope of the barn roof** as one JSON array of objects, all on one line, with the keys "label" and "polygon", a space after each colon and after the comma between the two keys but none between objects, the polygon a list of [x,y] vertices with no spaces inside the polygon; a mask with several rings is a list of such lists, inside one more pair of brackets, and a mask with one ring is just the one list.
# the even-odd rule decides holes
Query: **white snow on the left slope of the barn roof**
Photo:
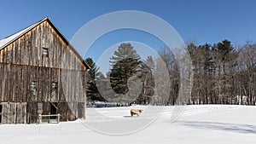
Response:
[{"label": "white snow on the left slope of the barn roof", "polygon": [[16,39],[24,35],[26,32],[29,32],[34,28],[35,26],[38,26],[41,22],[49,18],[44,18],[43,20],[38,21],[37,23],[33,24],[32,26],[28,26],[25,29],[21,30],[20,32],[17,32],[13,35],[10,35],[9,37],[5,37],[4,39],[0,40],[0,49],[3,49],[4,47],[8,46],[9,43],[14,42]]}]

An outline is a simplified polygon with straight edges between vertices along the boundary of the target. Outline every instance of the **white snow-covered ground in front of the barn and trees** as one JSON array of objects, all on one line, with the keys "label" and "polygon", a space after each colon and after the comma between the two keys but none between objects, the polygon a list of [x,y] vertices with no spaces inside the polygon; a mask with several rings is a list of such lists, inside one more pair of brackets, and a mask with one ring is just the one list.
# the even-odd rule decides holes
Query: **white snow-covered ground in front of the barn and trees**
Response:
[{"label": "white snow-covered ground in front of the barn and trees", "polygon": [[[143,108],[143,107],[142,107]],[[131,119],[131,107],[98,108],[97,112],[118,119]],[[130,135],[104,135],[90,130],[80,121],[61,124],[3,124],[1,143],[256,143],[256,107],[188,106],[175,123],[171,123],[173,107],[166,107],[147,128]],[[90,115],[90,109],[88,109]],[[147,114],[147,112],[143,113]],[[143,118],[143,114],[136,119]],[[91,116],[91,115],[90,115]],[[88,116],[89,117],[89,116]],[[122,119],[123,118],[123,119]],[[135,119],[135,118],[134,118]],[[87,121],[94,119],[93,116]],[[115,129],[115,128],[113,128]]]}]

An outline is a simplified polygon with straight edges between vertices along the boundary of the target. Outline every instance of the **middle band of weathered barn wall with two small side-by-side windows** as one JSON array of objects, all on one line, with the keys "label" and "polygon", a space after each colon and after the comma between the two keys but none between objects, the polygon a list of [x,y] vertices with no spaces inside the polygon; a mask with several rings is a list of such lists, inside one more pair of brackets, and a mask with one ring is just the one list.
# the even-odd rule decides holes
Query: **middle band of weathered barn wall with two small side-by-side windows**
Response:
[{"label": "middle band of weathered barn wall with two small side-by-side windows", "polygon": [[[0,102],[85,101],[84,71],[0,64]],[[36,90],[31,89],[32,81]],[[57,84],[57,89],[52,88]]]}]

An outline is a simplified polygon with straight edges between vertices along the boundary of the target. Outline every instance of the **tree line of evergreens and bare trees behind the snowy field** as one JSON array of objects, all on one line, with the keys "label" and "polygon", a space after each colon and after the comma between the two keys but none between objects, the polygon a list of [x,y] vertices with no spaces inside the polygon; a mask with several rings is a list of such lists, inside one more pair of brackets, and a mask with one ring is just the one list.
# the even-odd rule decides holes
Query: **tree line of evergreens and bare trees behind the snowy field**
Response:
[{"label": "tree line of evergreens and bare trees behind the snowy field", "polygon": [[[177,104],[241,104],[256,103],[256,44],[247,42],[234,46],[229,40],[214,44],[187,43],[192,61],[193,87],[191,95],[179,100],[181,88],[180,66],[172,51],[159,50],[159,58],[148,55],[142,60],[131,43],[121,43],[109,62],[111,70],[104,76],[99,67],[88,58],[91,69],[87,73],[89,101],[125,101],[128,103],[159,105]],[[162,73],[164,61],[168,79],[154,81]],[[168,80],[169,90],[156,93],[158,85]],[[99,89],[100,88],[100,89]],[[161,99],[165,95],[165,100]],[[183,94],[182,94],[183,95]],[[157,101],[155,101],[157,99]],[[161,99],[161,100],[160,100]],[[155,104],[155,103],[154,103]]]}]

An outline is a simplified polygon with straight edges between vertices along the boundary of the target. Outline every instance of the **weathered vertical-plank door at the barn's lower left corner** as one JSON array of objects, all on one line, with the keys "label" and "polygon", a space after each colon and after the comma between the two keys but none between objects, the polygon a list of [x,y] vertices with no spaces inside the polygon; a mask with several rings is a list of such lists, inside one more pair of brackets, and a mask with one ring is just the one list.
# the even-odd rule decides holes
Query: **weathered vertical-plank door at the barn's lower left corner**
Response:
[{"label": "weathered vertical-plank door at the barn's lower left corner", "polygon": [[26,102],[3,102],[2,124],[26,124]]}]

